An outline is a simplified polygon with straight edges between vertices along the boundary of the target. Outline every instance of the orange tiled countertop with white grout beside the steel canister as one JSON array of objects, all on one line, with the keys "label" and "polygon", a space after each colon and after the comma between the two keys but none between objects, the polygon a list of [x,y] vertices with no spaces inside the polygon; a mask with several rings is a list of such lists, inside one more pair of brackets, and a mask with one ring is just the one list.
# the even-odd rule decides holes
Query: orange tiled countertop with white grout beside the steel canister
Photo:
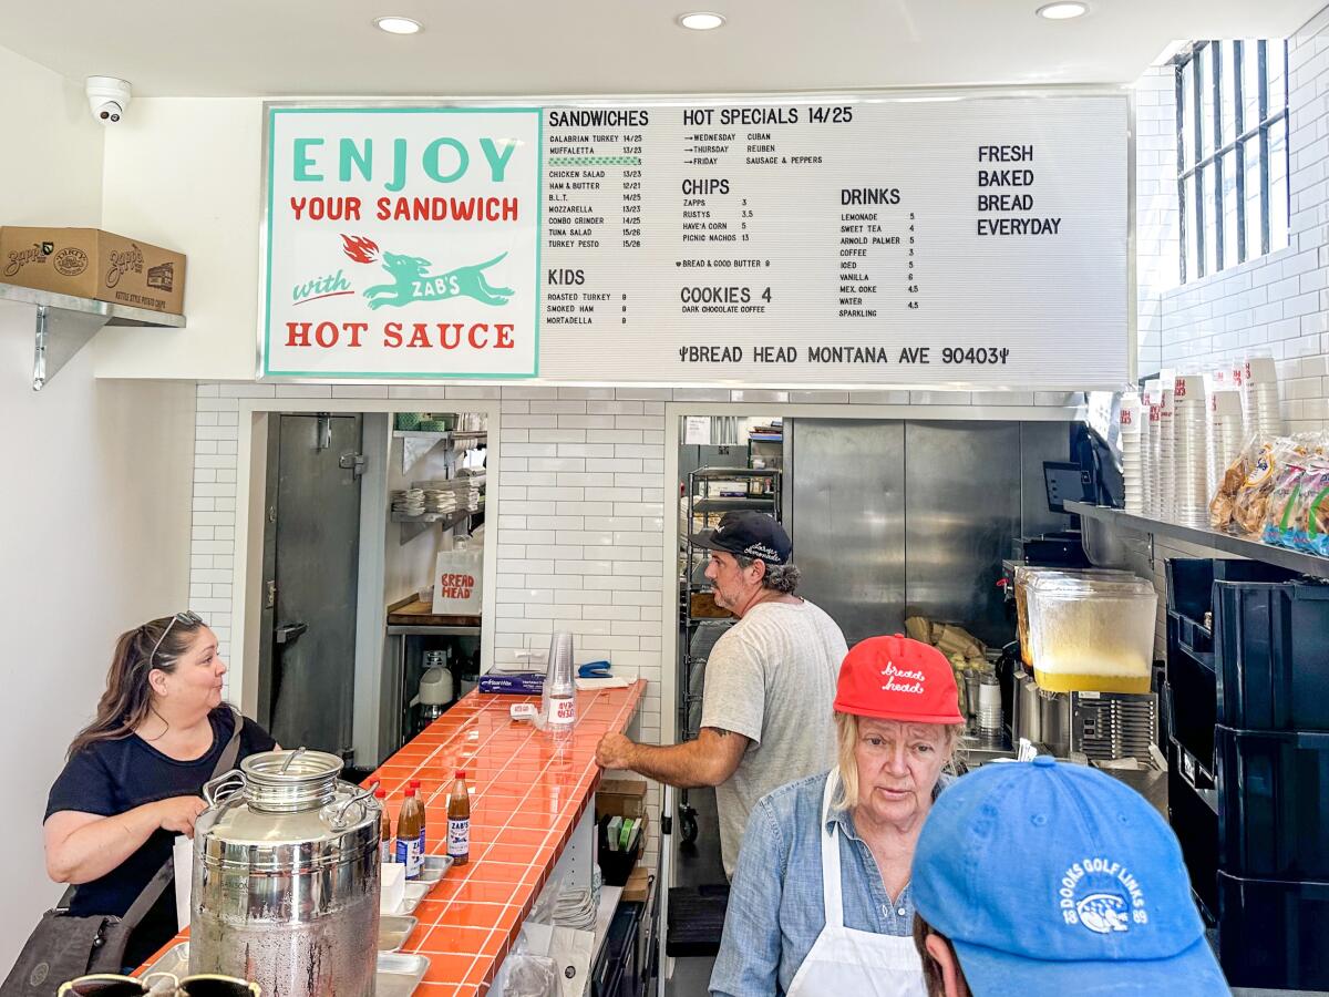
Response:
[{"label": "orange tiled countertop with white grout beside the steel canister", "polygon": [[[508,714],[513,703],[538,707],[537,699],[473,691],[361,783],[381,782],[395,823],[407,786],[419,779],[427,851],[445,855],[448,791],[455,771],[466,770],[470,861],[449,869],[420,904],[420,924],[403,948],[431,961],[417,994],[472,997],[493,982],[599,786],[595,744],[627,727],[645,691],[638,679],[627,689],[577,693],[575,727],[557,740]],[[181,932],[162,952],[187,937]]]}]

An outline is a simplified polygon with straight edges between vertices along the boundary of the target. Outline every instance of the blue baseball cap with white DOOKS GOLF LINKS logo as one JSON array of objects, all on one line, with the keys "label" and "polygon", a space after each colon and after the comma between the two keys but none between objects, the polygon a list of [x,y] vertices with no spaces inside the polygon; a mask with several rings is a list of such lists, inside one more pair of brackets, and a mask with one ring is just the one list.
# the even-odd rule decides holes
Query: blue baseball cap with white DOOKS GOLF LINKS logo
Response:
[{"label": "blue baseball cap with white DOOKS GOLF LINKS logo", "polygon": [[957,780],[932,804],[912,891],[977,997],[1229,993],[1176,836],[1094,768],[1039,755]]}]

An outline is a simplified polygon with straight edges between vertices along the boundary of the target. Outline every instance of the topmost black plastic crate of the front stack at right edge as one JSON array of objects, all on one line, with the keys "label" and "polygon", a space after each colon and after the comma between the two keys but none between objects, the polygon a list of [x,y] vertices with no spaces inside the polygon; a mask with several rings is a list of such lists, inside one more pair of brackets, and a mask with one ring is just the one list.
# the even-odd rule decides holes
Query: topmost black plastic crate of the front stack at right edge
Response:
[{"label": "topmost black plastic crate of the front stack at right edge", "polygon": [[1329,731],[1329,585],[1215,582],[1219,723]]}]

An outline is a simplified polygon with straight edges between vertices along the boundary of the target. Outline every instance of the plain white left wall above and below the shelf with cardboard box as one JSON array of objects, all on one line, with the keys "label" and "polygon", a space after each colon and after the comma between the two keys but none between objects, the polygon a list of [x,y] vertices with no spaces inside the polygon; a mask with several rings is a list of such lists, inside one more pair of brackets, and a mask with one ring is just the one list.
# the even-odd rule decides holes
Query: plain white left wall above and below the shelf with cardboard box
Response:
[{"label": "plain white left wall above and below the shelf with cardboard box", "polygon": [[[100,225],[102,129],[82,86],[0,48],[0,92],[23,94],[5,105],[0,223]],[[181,609],[189,572],[191,389],[97,382],[84,350],[35,395],[32,335],[33,308],[0,303],[0,974],[60,893],[47,791],[114,638]]]}]

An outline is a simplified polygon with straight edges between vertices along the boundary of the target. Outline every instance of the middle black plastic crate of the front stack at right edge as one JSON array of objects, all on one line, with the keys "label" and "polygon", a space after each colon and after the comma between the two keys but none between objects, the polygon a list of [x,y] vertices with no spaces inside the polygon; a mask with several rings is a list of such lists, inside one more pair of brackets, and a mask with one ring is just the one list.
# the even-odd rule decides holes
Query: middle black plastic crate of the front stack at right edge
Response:
[{"label": "middle black plastic crate of the front stack at right edge", "polygon": [[1219,867],[1233,876],[1329,880],[1329,734],[1220,726],[1215,755]]}]

